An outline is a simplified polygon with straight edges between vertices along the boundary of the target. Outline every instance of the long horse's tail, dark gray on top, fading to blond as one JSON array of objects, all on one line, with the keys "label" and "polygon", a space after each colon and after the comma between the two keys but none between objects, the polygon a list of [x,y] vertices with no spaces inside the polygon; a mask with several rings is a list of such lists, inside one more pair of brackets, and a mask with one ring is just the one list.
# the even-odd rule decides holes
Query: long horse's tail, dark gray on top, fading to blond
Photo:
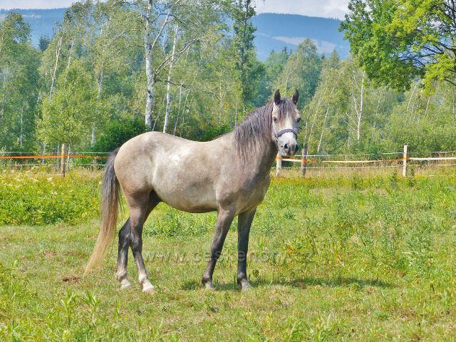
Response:
[{"label": "long horse's tail, dark gray on top, fading to blond", "polygon": [[115,176],[114,160],[118,149],[114,150],[106,163],[103,182],[101,183],[101,228],[95,243],[92,255],[87,263],[84,274],[90,272],[93,266],[100,263],[108,249],[108,244],[113,241],[117,224],[118,209],[120,206],[120,186]]}]

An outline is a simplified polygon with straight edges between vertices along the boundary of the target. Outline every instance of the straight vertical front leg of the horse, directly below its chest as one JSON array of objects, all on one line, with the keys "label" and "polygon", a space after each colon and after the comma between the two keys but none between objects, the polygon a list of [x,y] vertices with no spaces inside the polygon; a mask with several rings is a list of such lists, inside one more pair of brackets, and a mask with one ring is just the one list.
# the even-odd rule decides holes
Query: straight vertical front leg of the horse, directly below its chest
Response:
[{"label": "straight vertical front leg of the horse, directly below its chest", "polygon": [[237,284],[242,290],[249,289],[247,280],[247,250],[249,249],[250,227],[257,208],[242,212],[237,218]]}]

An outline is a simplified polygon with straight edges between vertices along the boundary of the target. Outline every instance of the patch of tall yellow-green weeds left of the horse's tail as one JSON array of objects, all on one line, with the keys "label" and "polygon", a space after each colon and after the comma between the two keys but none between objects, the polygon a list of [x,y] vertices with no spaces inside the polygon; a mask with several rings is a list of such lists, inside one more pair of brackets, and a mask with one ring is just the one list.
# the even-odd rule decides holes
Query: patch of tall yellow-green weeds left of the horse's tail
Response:
[{"label": "patch of tall yellow-green weeds left of the horse's tail", "polygon": [[100,175],[0,174],[0,224],[78,224],[98,217]]}]

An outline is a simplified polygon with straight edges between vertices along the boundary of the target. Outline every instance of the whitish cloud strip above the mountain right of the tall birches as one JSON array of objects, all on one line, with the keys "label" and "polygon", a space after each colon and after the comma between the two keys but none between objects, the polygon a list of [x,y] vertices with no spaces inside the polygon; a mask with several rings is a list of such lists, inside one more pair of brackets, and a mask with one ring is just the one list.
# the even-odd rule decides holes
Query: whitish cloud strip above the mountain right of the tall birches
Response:
[{"label": "whitish cloud strip above the mountain right of the tall birches", "polygon": [[257,13],[287,13],[343,19],[348,0],[257,0]]}]

